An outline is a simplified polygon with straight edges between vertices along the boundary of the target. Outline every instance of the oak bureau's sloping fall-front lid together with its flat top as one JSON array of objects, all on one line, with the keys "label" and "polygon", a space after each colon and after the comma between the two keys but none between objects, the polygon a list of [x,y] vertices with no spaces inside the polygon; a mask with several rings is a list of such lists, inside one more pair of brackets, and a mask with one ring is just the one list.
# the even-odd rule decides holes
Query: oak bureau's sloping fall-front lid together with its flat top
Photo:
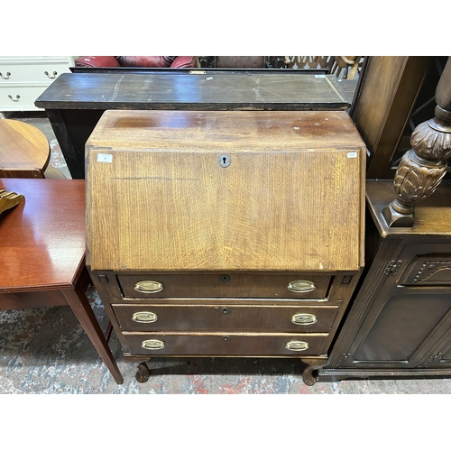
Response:
[{"label": "oak bureau's sloping fall-front lid together with its flat top", "polygon": [[359,271],[364,152],[345,112],[106,111],[86,144],[87,265]]}]

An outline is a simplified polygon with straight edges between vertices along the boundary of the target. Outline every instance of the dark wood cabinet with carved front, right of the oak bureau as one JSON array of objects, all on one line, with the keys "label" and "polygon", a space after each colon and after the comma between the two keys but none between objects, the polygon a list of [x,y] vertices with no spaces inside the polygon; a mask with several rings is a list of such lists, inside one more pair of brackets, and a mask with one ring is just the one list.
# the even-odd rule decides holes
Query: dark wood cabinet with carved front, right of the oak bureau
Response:
[{"label": "dark wood cabinet with carved front, right of the oak bureau", "polygon": [[367,262],[362,286],[320,381],[451,376],[451,184],[415,210],[415,225],[381,215],[390,180],[367,180]]}]

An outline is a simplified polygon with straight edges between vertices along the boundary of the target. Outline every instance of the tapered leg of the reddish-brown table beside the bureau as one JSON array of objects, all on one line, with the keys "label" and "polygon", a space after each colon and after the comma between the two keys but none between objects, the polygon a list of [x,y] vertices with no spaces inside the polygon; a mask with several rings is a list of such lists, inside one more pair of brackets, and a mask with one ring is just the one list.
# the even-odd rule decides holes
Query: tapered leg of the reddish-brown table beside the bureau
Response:
[{"label": "tapered leg of the reddish-brown table beside the bureau", "polygon": [[92,344],[97,349],[97,353],[102,357],[106,367],[115,378],[115,382],[123,383],[124,378],[115,363],[115,357],[106,343],[105,336],[100,328],[94,311],[87,300],[85,290],[76,288],[75,290],[61,290],[62,294],[68,301],[70,308],[72,308],[75,316],[78,318],[81,326],[85,329],[87,336],[90,338]]}]

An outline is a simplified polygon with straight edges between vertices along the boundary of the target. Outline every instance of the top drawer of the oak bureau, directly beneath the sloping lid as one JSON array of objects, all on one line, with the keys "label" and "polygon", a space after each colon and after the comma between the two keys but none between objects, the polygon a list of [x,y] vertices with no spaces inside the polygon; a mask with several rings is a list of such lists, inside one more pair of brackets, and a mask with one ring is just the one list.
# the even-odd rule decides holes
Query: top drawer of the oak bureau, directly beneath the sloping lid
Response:
[{"label": "top drawer of the oak bureau, directly beneath the sloping lid", "polygon": [[146,274],[119,275],[125,298],[297,298],[324,299],[328,275]]}]

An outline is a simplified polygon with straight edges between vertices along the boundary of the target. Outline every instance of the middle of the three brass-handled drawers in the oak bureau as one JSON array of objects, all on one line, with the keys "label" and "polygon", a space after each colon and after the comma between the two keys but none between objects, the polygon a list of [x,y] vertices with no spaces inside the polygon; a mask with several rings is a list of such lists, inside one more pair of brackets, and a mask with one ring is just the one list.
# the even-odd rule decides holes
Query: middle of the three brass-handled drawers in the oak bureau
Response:
[{"label": "middle of the three brass-handled drawers in the oak bureau", "polygon": [[113,305],[119,325],[129,331],[328,332],[338,307],[244,305]]}]

